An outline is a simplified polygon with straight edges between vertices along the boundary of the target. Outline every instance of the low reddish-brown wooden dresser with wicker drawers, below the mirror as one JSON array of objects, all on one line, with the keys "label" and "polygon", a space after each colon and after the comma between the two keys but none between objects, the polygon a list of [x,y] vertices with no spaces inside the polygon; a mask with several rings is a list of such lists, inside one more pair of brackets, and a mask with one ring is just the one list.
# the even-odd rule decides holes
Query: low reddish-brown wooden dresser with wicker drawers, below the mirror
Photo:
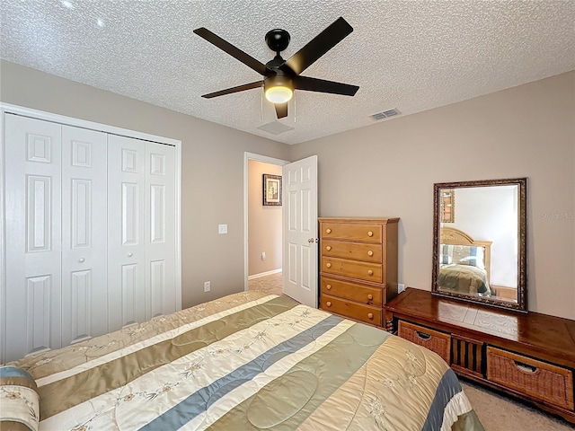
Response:
[{"label": "low reddish-brown wooden dresser with wicker drawers, below the mirror", "polygon": [[408,287],[385,305],[385,325],[438,353],[456,374],[575,423],[575,321]]}]

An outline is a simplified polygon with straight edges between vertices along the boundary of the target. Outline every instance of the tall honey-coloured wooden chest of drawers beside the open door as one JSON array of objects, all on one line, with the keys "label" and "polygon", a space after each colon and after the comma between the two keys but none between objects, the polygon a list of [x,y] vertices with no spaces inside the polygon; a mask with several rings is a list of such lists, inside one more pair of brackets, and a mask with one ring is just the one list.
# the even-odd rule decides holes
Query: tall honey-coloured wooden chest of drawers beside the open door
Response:
[{"label": "tall honey-coloured wooden chest of drawers beside the open door", "polygon": [[384,326],[397,295],[399,218],[320,217],[320,308]]}]

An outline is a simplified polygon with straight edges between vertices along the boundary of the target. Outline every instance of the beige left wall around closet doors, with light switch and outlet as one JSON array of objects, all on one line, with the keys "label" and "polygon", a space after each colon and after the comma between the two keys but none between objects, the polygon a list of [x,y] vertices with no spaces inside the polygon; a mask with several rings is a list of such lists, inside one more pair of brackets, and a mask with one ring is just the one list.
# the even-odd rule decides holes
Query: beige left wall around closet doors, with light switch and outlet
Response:
[{"label": "beige left wall around closet doors, with light switch and outlet", "polygon": [[243,290],[243,153],[288,160],[288,145],[6,61],[0,101],[181,140],[182,306]]}]

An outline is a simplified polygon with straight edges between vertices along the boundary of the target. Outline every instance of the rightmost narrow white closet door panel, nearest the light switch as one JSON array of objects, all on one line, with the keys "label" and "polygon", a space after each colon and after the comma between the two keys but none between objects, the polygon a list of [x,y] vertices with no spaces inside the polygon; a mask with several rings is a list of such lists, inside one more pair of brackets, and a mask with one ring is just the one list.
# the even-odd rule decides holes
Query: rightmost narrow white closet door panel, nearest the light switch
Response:
[{"label": "rightmost narrow white closet door panel, nearest the light switch", "polygon": [[146,319],[176,311],[175,147],[146,143]]}]

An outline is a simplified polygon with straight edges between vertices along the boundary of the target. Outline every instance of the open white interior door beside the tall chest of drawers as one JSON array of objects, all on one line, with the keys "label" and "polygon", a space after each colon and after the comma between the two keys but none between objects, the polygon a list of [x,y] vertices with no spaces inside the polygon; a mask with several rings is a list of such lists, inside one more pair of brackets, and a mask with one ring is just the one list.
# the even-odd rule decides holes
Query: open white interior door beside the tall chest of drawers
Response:
[{"label": "open white interior door beside the tall chest of drawers", "polygon": [[317,308],[317,155],[283,166],[284,293]]}]

